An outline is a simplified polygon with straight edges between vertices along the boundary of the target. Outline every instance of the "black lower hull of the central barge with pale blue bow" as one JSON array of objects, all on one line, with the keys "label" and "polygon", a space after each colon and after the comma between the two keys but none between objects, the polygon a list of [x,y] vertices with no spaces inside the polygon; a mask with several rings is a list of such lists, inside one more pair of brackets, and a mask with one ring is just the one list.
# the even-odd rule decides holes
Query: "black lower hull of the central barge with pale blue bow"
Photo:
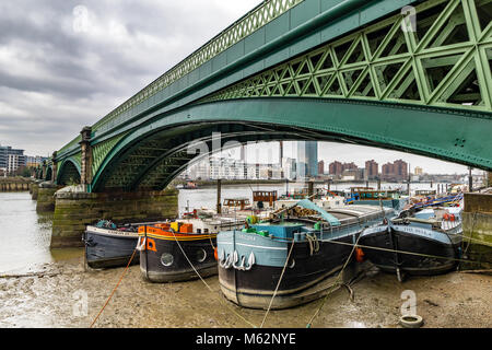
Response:
[{"label": "black lower hull of the central barge with pale blue bow", "polygon": [[[271,310],[302,305],[325,296],[352,252],[355,235],[336,242],[319,242],[319,250],[311,254],[307,242],[294,243],[285,272]],[[289,249],[292,244],[289,244]],[[267,310],[277,289],[283,267],[254,265],[248,271],[219,267],[219,281],[226,299],[248,308]]]}]

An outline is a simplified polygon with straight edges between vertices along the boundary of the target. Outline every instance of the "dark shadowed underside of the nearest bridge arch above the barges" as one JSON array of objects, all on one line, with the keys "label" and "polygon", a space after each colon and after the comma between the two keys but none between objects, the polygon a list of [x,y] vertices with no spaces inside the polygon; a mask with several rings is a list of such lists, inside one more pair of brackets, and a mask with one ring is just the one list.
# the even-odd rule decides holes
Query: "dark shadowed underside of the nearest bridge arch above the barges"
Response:
[{"label": "dark shadowed underside of the nearest bridge arch above the barges", "polygon": [[[94,190],[162,189],[190,163],[213,151],[246,142],[314,140],[317,137],[320,135],[302,128],[247,122],[198,122],[164,129],[126,148],[108,165],[113,171],[107,172]],[[332,135],[323,137],[325,140],[339,140]]]}]

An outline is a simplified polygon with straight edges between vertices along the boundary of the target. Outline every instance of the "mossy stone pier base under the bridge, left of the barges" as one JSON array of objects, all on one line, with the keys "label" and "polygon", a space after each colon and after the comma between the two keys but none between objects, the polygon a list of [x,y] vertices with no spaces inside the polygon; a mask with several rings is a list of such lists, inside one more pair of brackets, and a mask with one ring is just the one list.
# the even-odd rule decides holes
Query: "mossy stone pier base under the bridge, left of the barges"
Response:
[{"label": "mossy stone pier base under the bridge, left of the barges", "polygon": [[82,246],[85,225],[101,219],[130,223],[177,214],[177,190],[87,194],[80,186],[66,187],[55,194],[51,248]]}]

